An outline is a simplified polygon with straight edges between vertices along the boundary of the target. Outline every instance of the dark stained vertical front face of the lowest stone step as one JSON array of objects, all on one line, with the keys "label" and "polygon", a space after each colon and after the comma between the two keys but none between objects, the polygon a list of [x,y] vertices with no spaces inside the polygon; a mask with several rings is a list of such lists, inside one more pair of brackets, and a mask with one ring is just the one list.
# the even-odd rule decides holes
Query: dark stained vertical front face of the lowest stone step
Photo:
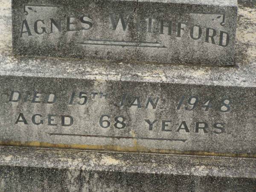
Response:
[{"label": "dark stained vertical front face of the lowest stone step", "polygon": [[3,191],[255,191],[247,178],[1,166]]}]

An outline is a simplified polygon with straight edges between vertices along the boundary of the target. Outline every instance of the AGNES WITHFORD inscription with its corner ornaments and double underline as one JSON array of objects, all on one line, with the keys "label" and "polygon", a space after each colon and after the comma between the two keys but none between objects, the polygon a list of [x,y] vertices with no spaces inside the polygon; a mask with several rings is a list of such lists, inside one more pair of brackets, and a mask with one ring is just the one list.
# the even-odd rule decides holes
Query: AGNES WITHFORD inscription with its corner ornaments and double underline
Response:
[{"label": "AGNES WITHFORD inscription with its corner ornaments and double underline", "polygon": [[[24,6],[26,7],[26,6]],[[35,7],[35,8],[34,8]],[[36,9],[37,6],[27,7],[29,10]],[[24,8],[26,9],[26,8]],[[24,10],[24,13],[28,15],[28,12]],[[189,14],[201,14],[201,15],[214,15],[214,19],[223,18],[220,26],[224,26],[225,15],[218,13],[188,13]],[[77,31],[93,31],[94,26],[101,25],[96,23],[92,14],[81,13],[82,16],[65,16],[62,19],[54,18],[40,18],[33,20],[30,18],[30,22],[25,19],[22,21],[20,26],[20,38],[33,36],[33,35],[44,35],[51,33],[63,33],[63,32],[77,32]],[[172,18],[156,18],[154,16],[140,17],[134,16],[131,12],[127,15],[123,13],[110,12],[108,17],[109,29],[115,31],[121,29],[123,33],[129,30],[143,33],[153,33],[155,35],[169,35],[175,36],[176,38],[184,37],[184,33],[187,34],[194,41],[203,41],[210,44],[216,44],[221,47],[227,47],[230,43],[230,34],[228,32],[214,29],[212,27],[203,28],[200,24],[191,23],[189,21],[173,21]],[[212,19],[212,20],[214,20]],[[103,26],[102,26],[103,27]],[[102,30],[102,29],[101,29]],[[122,34],[121,34],[122,35]],[[185,35],[186,36],[186,35]],[[84,39],[85,38],[85,39]],[[81,45],[107,45],[107,46],[121,46],[121,47],[152,47],[152,48],[166,48],[159,42],[148,42],[148,41],[137,41],[140,45],[133,44],[131,41],[118,41],[109,39],[97,39],[81,37],[83,42]]]}]

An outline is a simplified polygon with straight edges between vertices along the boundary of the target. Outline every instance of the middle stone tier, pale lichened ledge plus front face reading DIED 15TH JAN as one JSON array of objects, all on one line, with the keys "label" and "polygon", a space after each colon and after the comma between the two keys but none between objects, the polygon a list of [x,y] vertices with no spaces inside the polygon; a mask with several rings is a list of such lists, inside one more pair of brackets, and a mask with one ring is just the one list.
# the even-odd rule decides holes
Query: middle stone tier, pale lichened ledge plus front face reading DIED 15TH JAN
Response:
[{"label": "middle stone tier, pale lichened ledge plus front face reading DIED 15TH JAN", "polygon": [[[6,35],[11,31],[10,15],[1,17],[4,29],[0,58],[1,143],[255,156],[254,11],[250,7],[239,9],[235,67],[12,56],[11,37]],[[20,92],[18,102],[15,102],[17,93],[11,98],[12,91]],[[73,105],[69,105],[73,92]],[[44,103],[50,93],[56,95],[54,104]],[[84,103],[83,96],[87,102],[79,105]],[[184,100],[179,109],[182,96]],[[195,102],[195,96],[198,105],[188,105],[189,98],[190,103]],[[123,98],[125,105],[122,106]],[[154,109],[150,99],[156,103],[157,98]],[[209,99],[212,99],[212,108],[207,111]],[[139,100],[141,106],[137,103]],[[110,121],[110,127],[103,128],[108,122],[100,125],[102,115],[110,116],[102,119]],[[61,125],[61,116],[66,118],[67,125],[69,117],[64,116],[72,116],[73,124]],[[124,128],[116,124],[117,116],[125,118]],[[154,120],[149,130],[148,122]],[[56,126],[52,125],[55,123]],[[209,128],[204,130],[202,126]]]}]

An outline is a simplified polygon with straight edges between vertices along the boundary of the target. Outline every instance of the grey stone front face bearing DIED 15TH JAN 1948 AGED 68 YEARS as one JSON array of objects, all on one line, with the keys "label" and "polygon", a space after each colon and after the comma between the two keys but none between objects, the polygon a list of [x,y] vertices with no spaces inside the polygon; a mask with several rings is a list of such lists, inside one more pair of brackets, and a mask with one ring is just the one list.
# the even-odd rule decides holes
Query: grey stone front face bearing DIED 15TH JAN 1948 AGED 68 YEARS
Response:
[{"label": "grey stone front face bearing DIED 15TH JAN 1948 AGED 68 YEARS", "polygon": [[0,144],[256,156],[256,87],[44,77],[29,63],[17,58],[33,76],[0,70]]}]

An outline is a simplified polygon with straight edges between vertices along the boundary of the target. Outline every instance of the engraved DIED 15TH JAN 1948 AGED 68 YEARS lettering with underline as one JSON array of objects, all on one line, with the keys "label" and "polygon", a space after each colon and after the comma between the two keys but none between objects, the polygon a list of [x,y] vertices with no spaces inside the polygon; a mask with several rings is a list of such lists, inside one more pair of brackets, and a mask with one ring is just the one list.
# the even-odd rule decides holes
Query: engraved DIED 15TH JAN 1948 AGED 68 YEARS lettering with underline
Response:
[{"label": "engraved DIED 15TH JAN 1948 AGED 68 YEARS lettering with underline", "polygon": [[[94,105],[96,102],[104,102],[108,99],[108,93],[102,92],[86,92],[74,91],[70,93],[65,105],[67,106],[90,106]],[[29,92],[21,92],[18,90],[14,90],[10,93],[9,102],[10,103],[28,103],[31,102],[34,105],[43,104],[43,105],[51,105],[54,106],[60,100],[60,96],[56,96],[54,93],[42,94],[38,91],[34,91],[34,93]],[[195,110],[201,110],[201,113],[209,113],[209,111],[218,111],[218,113],[228,113],[232,111],[232,101],[228,98],[216,99],[200,99],[200,96],[181,96],[179,100],[177,100],[173,104],[173,108],[164,109],[163,99],[158,96],[148,96],[146,99],[142,99],[141,96],[131,96],[127,94],[123,94],[119,101],[116,102],[119,105],[119,108],[127,108],[131,110],[175,110],[177,113],[183,111],[183,113],[191,113]],[[71,110],[71,108],[70,108]],[[89,112],[90,113],[90,112]],[[87,114],[90,115],[90,114]],[[98,125],[96,129],[99,133],[104,133],[107,130],[128,130],[131,124],[131,118],[127,114],[110,114],[110,113],[102,113],[93,114],[98,116],[98,119],[93,122],[94,125]],[[55,127],[73,127],[73,125],[79,124],[81,117],[72,116],[69,113],[64,114],[42,114],[40,112],[35,114],[30,114],[24,112],[20,112],[15,114],[15,125],[46,125],[46,126],[55,126]],[[196,119],[196,118],[195,118]],[[173,119],[173,118],[157,118],[157,119],[141,119],[140,127],[144,127],[144,132],[162,132],[162,133],[177,133],[177,134],[225,134],[226,133],[226,122],[206,122],[201,119],[193,120],[192,122],[188,122],[190,119]],[[86,128],[84,129],[85,133],[87,133]],[[103,131],[103,132],[102,132]],[[76,134],[75,132],[63,133],[61,132],[45,132],[49,137],[53,136],[72,136],[72,137],[98,137],[98,138],[109,138],[109,139],[137,139],[137,140],[160,140],[160,141],[173,141],[173,142],[186,142],[187,139],[179,138],[177,134],[173,138],[157,138],[157,137],[128,137],[120,135],[112,136],[108,134]]]}]

